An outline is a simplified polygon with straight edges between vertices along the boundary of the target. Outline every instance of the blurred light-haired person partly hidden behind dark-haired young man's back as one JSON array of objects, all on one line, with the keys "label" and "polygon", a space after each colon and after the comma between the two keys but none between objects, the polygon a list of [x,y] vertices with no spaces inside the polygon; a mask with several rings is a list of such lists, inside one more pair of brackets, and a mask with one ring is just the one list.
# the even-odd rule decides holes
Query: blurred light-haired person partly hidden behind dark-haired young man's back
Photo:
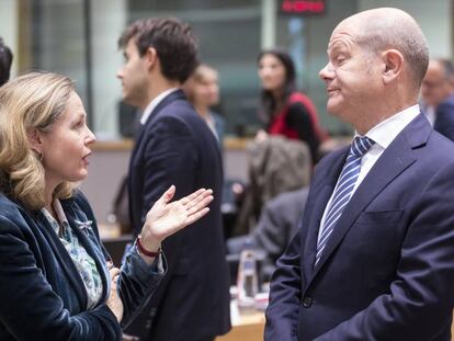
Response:
[{"label": "blurred light-haired person partly hidden behind dark-haired young man's back", "polygon": [[219,104],[217,71],[206,64],[201,64],[183,84],[183,91],[223,146],[225,120],[213,111],[213,106]]}]

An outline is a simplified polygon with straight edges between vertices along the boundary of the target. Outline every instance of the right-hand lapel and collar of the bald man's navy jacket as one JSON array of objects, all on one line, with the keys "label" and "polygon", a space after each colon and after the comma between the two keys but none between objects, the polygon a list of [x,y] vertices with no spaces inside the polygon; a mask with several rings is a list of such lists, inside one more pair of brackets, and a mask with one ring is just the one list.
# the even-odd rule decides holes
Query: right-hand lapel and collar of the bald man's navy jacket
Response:
[{"label": "right-hand lapel and collar of the bald man's navy jacket", "polygon": [[[386,148],[345,206],[325,247],[320,261],[314,269],[314,276],[331,257],[359,215],[364,212],[374,197],[416,161],[412,149],[424,145],[430,132],[430,125],[422,115],[419,115]],[[317,241],[315,241],[316,243]]]}]

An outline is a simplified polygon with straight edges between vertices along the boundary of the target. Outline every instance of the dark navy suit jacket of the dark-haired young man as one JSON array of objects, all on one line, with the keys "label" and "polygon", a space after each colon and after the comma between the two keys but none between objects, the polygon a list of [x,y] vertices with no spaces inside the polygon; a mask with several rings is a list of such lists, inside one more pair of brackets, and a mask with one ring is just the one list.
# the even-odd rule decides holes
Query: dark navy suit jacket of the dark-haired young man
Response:
[{"label": "dark navy suit jacket of the dark-haired young man", "polygon": [[[202,340],[230,328],[229,280],[220,216],[218,143],[181,90],[154,110],[129,162],[129,209],[139,232],[152,204],[171,185],[175,200],[213,189],[209,213],[164,240],[168,273],[150,300],[149,340]],[[148,326],[147,326],[148,327]]]}]

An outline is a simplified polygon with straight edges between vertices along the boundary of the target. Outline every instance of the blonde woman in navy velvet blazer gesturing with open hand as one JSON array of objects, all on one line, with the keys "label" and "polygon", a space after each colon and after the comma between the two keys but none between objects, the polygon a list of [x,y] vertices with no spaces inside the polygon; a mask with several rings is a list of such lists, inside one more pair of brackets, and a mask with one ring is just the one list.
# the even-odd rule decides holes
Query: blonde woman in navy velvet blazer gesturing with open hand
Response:
[{"label": "blonde woman in navy velvet blazer gesturing with open hand", "polygon": [[29,73],[0,89],[0,340],[121,340],[166,272],[160,243],[208,212],[209,190],[149,211],[122,269],[77,183],[90,147],[71,80]]}]

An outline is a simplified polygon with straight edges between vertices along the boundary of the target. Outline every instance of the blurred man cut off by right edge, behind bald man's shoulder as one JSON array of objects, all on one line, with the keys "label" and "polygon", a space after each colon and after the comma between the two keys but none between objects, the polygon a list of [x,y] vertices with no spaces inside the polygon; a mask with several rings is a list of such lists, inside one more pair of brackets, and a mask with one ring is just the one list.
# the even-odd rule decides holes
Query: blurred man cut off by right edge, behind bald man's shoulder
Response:
[{"label": "blurred man cut off by right edge, behind bald man's shoulder", "polygon": [[421,86],[424,114],[433,128],[454,140],[454,66],[432,59]]}]

